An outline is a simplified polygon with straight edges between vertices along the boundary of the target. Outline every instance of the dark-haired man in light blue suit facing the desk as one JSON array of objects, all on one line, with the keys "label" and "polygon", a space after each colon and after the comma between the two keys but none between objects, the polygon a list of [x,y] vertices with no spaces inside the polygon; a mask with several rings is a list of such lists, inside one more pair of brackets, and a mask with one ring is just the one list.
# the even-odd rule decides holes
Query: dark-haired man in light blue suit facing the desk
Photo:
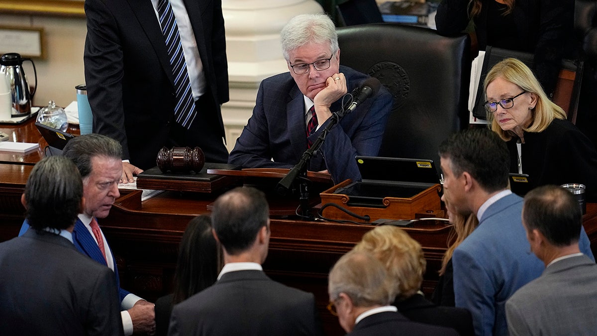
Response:
[{"label": "dark-haired man in light blue suit facing the desk", "polygon": [[[522,198],[508,189],[506,143],[488,129],[470,129],[445,140],[439,156],[442,200],[479,219],[452,257],[456,306],[470,310],[476,335],[507,335],[506,300],[544,267],[522,227]],[[584,230],[580,249],[593,259]]]}]

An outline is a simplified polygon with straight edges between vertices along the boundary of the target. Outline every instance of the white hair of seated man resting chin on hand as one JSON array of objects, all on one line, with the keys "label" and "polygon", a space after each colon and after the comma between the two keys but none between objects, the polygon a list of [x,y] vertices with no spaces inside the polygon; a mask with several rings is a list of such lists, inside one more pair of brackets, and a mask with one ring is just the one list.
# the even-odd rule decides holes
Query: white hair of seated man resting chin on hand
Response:
[{"label": "white hair of seated man resting chin on hand", "polygon": [[338,49],[336,26],[326,14],[301,14],[293,17],[280,32],[282,54],[287,61],[288,53],[310,43],[329,43],[332,54]]}]

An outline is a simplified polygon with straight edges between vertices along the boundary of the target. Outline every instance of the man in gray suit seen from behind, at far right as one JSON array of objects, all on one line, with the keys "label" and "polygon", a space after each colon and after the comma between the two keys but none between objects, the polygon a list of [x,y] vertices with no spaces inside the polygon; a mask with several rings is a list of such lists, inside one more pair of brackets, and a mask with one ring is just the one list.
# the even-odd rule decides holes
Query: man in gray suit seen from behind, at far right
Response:
[{"label": "man in gray suit seen from behind, at far right", "polygon": [[522,225],[545,270],[506,302],[510,335],[597,335],[597,265],[578,245],[576,198],[555,185],[531,190]]}]

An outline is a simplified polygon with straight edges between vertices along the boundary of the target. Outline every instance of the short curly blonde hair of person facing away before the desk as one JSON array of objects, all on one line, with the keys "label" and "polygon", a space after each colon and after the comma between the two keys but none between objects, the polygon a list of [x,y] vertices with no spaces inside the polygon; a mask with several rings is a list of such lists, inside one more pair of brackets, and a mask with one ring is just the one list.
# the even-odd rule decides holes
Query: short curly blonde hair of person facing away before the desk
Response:
[{"label": "short curly blonde hair of person facing away before the desk", "polygon": [[369,252],[385,265],[399,300],[411,297],[421,288],[427,265],[423,248],[401,228],[376,227],[365,233],[353,250]]}]

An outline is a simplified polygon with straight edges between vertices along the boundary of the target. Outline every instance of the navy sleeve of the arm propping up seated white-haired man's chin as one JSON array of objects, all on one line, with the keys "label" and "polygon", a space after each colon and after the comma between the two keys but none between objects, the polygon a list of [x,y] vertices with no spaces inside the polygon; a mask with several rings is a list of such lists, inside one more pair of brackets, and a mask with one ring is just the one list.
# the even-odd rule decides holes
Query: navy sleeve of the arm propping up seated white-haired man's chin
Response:
[{"label": "navy sleeve of the arm propping up seated white-haired man's chin", "polygon": [[[338,125],[328,133],[325,142],[321,147],[325,158],[325,164],[334,182],[339,183],[345,179],[359,181],[361,173],[356,164],[356,155],[376,156],[381,146],[383,132],[386,129],[387,117],[392,109],[392,96],[382,88],[375,97],[368,111],[355,109],[352,113],[365,113],[361,124],[356,127],[355,132],[349,137]],[[315,134],[309,138],[313,142],[321,134],[330,120],[319,127]]]}]

